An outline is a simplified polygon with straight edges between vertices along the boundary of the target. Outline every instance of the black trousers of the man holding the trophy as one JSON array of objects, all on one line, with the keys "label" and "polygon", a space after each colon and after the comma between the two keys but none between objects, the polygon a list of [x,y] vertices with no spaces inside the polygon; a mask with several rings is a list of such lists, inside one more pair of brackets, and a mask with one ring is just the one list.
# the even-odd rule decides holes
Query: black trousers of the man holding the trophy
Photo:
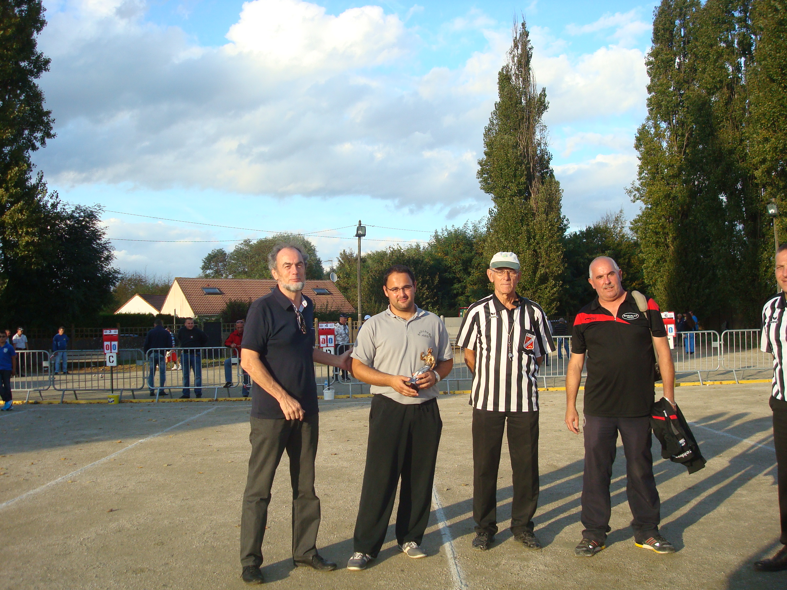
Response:
[{"label": "black trousers of the man holding the trophy", "polygon": [[441,432],[437,400],[405,405],[382,395],[372,398],[353,551],[372,557],[379,553],[400,477],[397,543],[421,544],[429,522]]}]

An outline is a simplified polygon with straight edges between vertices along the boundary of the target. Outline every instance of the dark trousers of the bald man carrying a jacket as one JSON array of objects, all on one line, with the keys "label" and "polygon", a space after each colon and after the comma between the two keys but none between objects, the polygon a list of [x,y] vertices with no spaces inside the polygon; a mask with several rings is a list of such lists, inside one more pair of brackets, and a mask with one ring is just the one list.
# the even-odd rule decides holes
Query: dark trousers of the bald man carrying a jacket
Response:
[{"label": "dark trousers of the bald man carrying a jacket", "polygon": [[659,532],[660,500],[653,477],[650,417],[585,416],[585,474],[582,478],[582,537],[603,543],[609,533],[609,482],[618,433],[626,454],[626,497],[634,520],[634,540],[641,543]]}]

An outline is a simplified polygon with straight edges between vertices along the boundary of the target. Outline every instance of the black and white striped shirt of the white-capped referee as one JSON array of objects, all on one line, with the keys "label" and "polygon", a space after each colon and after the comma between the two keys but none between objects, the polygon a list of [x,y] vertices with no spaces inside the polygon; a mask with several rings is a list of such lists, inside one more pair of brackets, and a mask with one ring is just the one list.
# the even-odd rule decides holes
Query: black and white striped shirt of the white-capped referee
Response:
[{"label": "black and white striped shirt of the white-capped referee", "polygon": [[456,345],[475,351],[470,405],[489,411],[538,411],[536,358],[554,352],[541,307],[519,297],[507,309],[494,294],[476,301],[462,320]]}]

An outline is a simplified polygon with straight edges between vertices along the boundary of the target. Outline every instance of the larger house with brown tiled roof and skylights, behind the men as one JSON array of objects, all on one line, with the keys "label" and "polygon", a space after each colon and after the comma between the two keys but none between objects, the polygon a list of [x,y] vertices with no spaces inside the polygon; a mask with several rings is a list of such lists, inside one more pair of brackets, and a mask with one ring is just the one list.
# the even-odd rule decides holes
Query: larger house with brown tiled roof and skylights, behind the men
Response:
[{"label": "larger house with brown tiled roof and skylights, behind the men", "polygon": [[[251,303],[275,287],[276,282],[272,279],[177,277],[156,313],[172,314],[179,318],[216,318],[224,310],[227,301]],[[314,301],[317,310],[343,313],[355,311],[331,281],[307,280],[303,293]]]}]

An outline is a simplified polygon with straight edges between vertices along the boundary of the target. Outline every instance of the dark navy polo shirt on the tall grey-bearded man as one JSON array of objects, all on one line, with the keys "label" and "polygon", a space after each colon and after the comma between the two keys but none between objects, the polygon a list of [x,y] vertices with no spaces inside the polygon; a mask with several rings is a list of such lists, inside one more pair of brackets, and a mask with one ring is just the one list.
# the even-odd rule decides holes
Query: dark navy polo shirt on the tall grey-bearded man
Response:
[{"label": "dark navy polo shirt on the tall grey-bearded man", "polygon": [[[268,373],[293,396],[306,415],[316,414],[317,385],[314,377],[314,304],[302,296],[306,306],[301,312],[306,334],[301,332],[292,301],[275,287],[254,301],[246,314],[241,348],[260,353]],[[253,418],[283,419],[279,402],[270,393],[252,382],[251,415]]]}]

